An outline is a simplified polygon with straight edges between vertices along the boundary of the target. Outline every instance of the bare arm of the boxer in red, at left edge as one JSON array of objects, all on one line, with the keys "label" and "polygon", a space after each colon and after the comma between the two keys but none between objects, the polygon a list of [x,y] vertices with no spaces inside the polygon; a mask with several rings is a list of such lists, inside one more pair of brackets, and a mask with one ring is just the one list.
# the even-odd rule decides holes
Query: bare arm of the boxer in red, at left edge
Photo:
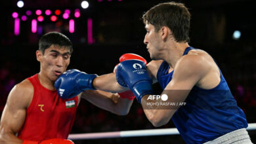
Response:
[{"label": "bare arm of the boxer in red, at left edge", "polygon": [[0,139],[7,143],[20,142],[15,134],[20,130],[26,118],[26,109],[33,98],[33,86],[23,81],[12,88],[3,115],[1,117]]}]

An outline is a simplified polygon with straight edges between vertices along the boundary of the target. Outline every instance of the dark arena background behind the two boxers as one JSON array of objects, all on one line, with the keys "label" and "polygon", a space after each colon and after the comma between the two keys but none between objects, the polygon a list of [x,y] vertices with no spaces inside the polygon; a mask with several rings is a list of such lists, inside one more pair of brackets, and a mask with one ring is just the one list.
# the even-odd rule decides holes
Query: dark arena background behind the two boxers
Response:
[{"label": "dark arena background behind the two boxers", "polygon": [[[89,1],[88,9],[81,9],[81,1],[24,0],[24,7],[18,8],[17,1],[1,1],[0,35],[0,114],[7,96],[14,84],[39,72],[39,62],[35,59],[38,40],[49,31],[60,31],[74,43],[69,69],[75,68],[87,73],[102,75],[111,73],[121,54],[132,52],[150,61],[143,39],[146,31],[141,17],[146,10],[161,2],[158,0],[123,0],[98,2]],[[256,57],[255,57],[255,5],[253,0],[190,0],[179,1],[192,14],[190,46],[207,51],[219,64],[238,105],[244,110],[248,123],[256,122],[253,115],[256,108]],[[20,21],[20,35],[14,35],[12,12],[24,14],[26,10],[81,10],[75,18],[75,32],[69,33],[68,20],[58,18],[51,22],[45,16],[43,33],[31,32],[31,20]],[[44,11],[43,11],[44,12]],[[87,44],[87,18],[93,19],[93,45]],[[240,30],[239,40],[232,39],[234,30]],[[160,128],[174,128],[172,122]],[[114,132],[123,130],[152,129],[141,106],[134,101],[127,116],[117,116],[98,109],[82,99],[72,134],[91,132]],[[249,131],[252,141],[256,141],[256,131]],[[184,143],[180,135],[152,137],[131,137],[118,139],[98,139],[75,141],[75,143]]]}]

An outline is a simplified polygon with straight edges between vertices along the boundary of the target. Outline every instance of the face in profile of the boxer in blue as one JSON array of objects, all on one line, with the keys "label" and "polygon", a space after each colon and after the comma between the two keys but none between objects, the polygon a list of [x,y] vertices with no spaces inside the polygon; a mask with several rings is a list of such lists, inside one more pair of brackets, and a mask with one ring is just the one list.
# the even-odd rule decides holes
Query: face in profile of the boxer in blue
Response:
[{"label": "face in profile of the boxer in blue", "polygon": [[159,52],[161,50],[161,33],[155,31],[152,24],[146,24],[146,35],[144,37],[144,44],[150,53],[152,60],[159,60]]}]

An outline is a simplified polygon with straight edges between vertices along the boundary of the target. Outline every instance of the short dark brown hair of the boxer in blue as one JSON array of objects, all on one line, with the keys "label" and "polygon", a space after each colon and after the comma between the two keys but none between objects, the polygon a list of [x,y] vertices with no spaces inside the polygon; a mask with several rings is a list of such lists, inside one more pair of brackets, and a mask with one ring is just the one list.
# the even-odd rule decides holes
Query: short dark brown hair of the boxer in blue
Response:
[{"label": "short dark brown hair of the boxer in blue", "polygon": [[182,3],[160,3],[145,12],[144,24],[152,24],[156,31],[167,26],[177,42],[189,42],[190,12]]}]

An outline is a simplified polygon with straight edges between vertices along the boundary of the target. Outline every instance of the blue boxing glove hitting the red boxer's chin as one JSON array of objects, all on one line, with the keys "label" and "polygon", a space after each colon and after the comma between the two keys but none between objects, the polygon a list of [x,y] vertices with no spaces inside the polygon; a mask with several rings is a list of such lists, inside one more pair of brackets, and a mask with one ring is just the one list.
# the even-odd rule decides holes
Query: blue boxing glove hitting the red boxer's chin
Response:
[{"label": "blue boxing glove hitting the red boxer's chin", "polygon": [[95,74],[87,74],[77,69],[70,69],[58,77],[54,83],[54,87],[60,98],[74,98],[83,92],[83,90],[95,90],[93,88],[95,77],[97,77]]}]

